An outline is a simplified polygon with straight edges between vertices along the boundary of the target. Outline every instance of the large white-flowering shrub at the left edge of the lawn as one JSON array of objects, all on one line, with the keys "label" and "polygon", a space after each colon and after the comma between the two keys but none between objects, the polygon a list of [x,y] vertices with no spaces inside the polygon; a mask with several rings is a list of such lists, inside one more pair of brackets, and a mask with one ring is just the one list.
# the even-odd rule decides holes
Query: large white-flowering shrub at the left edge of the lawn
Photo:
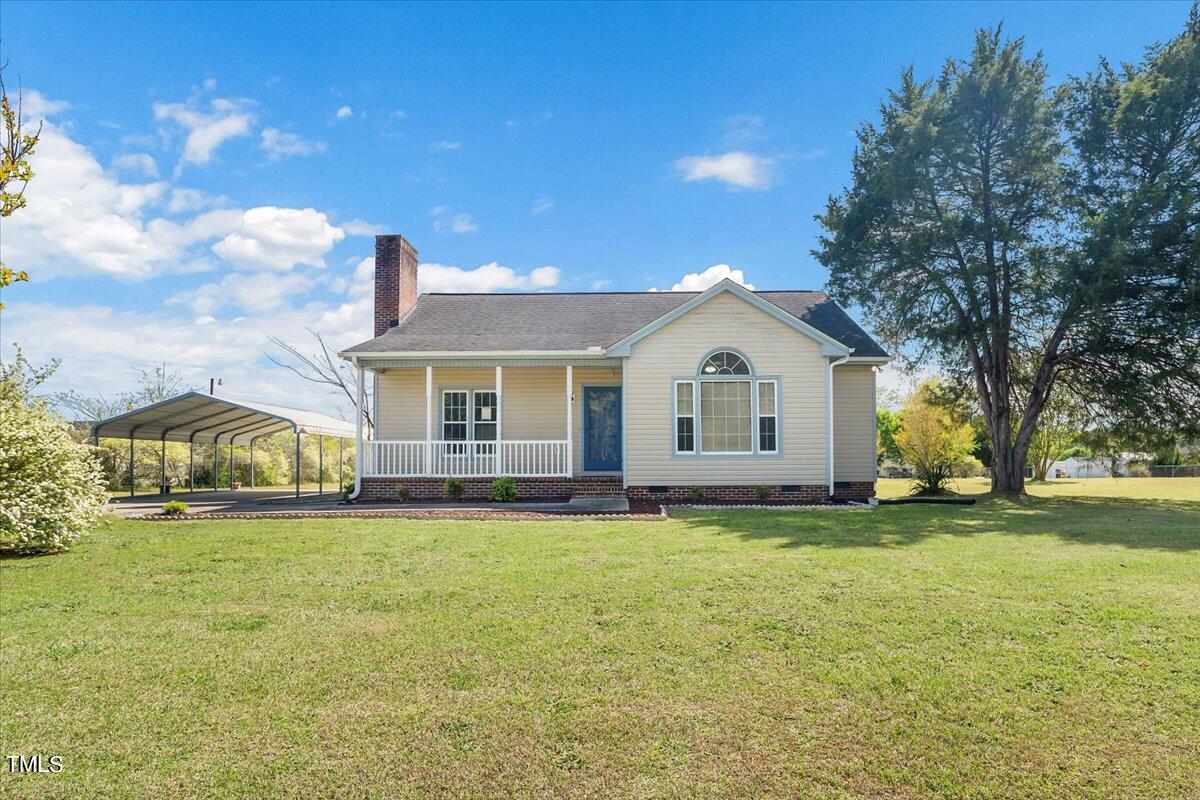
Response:
[{"label": "large white-flowering shrub at the left edge of the lawn", "polygon": [[29,390],[18,354],[0,375],[0,547],[23,553],[65,549],[96,524],[108,495],[92,447]]}]

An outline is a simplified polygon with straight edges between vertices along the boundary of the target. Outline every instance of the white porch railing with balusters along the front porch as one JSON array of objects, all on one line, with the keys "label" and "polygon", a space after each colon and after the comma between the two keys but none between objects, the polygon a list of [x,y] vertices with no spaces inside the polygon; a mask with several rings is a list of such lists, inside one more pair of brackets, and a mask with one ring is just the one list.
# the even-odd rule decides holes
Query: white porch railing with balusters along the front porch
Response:
[{"label": "white porch railing with balusters along the front porch", "polygon": [[364,441],[365,477],[569,476],[565,439],[529,441]]}]

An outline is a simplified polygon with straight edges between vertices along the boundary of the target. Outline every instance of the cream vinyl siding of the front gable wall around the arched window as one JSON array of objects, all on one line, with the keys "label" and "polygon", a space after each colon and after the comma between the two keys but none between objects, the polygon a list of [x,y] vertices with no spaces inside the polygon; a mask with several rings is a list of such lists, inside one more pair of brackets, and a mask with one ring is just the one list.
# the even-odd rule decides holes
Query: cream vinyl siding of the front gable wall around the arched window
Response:
[{"label": "cream vinyl siding of the front gable wall around the arched window", "polygon": [[[695,374],[701,359],[722,347],[744,353],[758,375],[779,378],[779,455],[672,453],[671,378]],[[824,483],[827,363],[815,341],[730,294],[649,335],[626,363],[629,483]]]}]

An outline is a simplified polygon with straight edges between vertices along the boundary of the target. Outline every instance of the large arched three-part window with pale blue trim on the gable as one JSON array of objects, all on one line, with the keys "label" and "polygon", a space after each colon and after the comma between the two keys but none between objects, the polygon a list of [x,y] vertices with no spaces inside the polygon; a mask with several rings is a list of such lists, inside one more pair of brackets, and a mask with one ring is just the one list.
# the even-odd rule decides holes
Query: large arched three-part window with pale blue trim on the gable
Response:
[{"label": "large arched three-part window with pale blue trim on the gable", "polygon": [[714,350],[695,379],[674,381],[677,453],[779,452],[779,383],[757,379],[746,356]]}]

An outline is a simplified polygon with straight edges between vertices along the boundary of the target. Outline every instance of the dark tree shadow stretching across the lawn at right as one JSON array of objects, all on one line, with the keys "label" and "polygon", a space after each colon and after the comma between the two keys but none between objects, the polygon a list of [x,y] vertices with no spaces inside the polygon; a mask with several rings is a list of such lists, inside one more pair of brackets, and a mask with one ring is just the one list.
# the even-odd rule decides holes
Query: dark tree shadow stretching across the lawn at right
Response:
[{"label": "dark tree shadow stretching across the lawn at right", "polygon": [[900,505],[874,511],[676,511],[696,529],[719,529],[780,547],[906,547],[931,536],[1057,536],[1080,545],[1200,549],[1200,503],[1114,498],[979,497],[973,506]]}]

